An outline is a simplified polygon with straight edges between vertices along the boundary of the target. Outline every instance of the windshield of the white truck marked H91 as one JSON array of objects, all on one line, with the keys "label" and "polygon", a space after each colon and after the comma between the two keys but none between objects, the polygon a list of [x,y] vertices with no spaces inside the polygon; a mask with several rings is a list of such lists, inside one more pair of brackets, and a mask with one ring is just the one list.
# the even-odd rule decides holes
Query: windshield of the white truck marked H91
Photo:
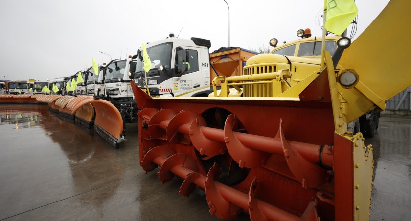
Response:
[{"label": "windshield of the white truck marked H91", "polygon": [[[153,47],[147,48],[147,54],[150,57],[151,68],[160,70],[160,66],[164,65],[165,69],[171,68],[171,52],[173,49],[173,43],[163,43]],[[142,55],[141,55],[142,56]],[[141,74],[143,71],[143,61],[137,59],[136,73]]]}]

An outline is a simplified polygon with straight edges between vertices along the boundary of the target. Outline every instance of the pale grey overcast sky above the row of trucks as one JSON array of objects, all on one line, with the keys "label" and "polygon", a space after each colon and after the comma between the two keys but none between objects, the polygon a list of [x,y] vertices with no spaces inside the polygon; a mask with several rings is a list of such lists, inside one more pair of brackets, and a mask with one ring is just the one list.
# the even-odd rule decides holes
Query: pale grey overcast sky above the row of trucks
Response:
[{"label": "pale grey overcast sky above the row of trucks", "polygon": [[[356,0],[356,37],[389,0]],[[227,0],[230,46],[258,49],[271,38],[296,40],[317,25],[322,0]],[[278,9],[278,10],[277,10]],[[322,22],[322,21],[321,21]],[[183,28],[180,38],[211,40],[210,52],[228,46],[223,0],[0,0],[0,79],[54,79],[126,54],[142,43]]]}]

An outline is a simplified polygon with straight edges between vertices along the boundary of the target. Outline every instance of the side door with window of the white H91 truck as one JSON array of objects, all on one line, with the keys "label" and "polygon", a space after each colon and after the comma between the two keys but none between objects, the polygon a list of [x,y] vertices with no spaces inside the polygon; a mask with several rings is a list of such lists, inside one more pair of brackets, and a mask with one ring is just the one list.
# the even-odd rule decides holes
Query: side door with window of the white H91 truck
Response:
[{"label": "side door with window of the white H91 truck", "polygon": [[178,47],[175,53],[177,77],[173,77],[171,88],[174,96],[190,96],[189,93],[201,89],[202,77],[199,71],[200,49]]}]

